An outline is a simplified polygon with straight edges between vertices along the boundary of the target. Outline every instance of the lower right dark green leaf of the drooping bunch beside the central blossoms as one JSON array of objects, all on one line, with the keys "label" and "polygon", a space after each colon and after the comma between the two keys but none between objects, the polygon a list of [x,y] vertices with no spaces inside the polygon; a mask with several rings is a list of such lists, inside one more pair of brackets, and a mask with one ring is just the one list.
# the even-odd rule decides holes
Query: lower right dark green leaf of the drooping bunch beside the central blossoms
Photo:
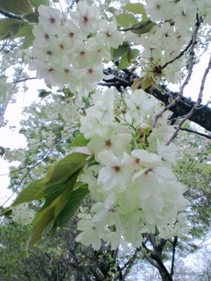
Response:
[{"label": "lower right dark green leaf of the drooping bunch beside the central blossoms", "polygon": [[81,205],[82,200],[84,200],[84,197],[86,197],[88,194],[89,190],[87,186],[84,185],[77,188],[77,190],[72,191],[72,194],[67,204],[57,216],[53,228],[56,228],[58,226],[65,226],[65,224],[68,223],[70,218],[72,218],[72,216],[75,214],[75,212]]}]

